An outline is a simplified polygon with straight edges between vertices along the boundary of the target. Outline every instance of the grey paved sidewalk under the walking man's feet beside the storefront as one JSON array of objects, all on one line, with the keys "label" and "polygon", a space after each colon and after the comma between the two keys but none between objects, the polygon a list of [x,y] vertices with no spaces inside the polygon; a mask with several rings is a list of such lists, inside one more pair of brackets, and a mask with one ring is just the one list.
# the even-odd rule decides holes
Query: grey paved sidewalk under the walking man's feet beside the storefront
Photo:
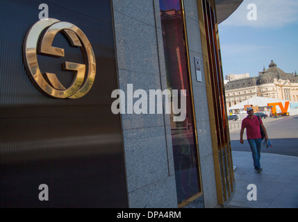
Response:
[{"label": "grey paved sidewalk under the walking man's feet beside the storefront", "polygon": [[[251,152],[233,151],[235,193],[227,207],[298,208],[298,157],[261,153],[263,171],[254,170]],[[257,200],[247,200],[251,189],[257,188]]]}]

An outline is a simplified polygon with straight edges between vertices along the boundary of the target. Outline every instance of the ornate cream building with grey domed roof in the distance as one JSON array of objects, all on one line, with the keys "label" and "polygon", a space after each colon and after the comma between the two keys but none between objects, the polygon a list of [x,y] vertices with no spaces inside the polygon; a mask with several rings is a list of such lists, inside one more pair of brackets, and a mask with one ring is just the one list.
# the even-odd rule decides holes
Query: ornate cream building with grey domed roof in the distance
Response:
[{"label": "ornate cream building with grey domed roof in the distance", "polygon": [[298,75],[285,73],[271,60],[258,76],[232,80],[225,89],[228,108],[254,96],[298,101]]}]

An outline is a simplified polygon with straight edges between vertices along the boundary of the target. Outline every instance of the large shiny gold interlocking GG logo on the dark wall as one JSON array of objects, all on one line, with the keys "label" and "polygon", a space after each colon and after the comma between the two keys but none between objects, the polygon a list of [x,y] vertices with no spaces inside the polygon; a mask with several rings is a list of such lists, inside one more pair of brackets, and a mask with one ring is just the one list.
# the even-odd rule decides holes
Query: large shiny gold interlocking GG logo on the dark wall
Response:
[{"label": "large shiny gold interlocking GG logo on the dark wall", "polygon": [[[44,31],[44,29],[46,29]],[[44,31],[40,39],[40,34]],[[56,74],[46,72],[44,75],[38,66],[38,53],[44,55],[64,57],[64,49],[52,46],[54,37],[58,32],[62,31],[72,46],[82,47],[87,55],[85,64],[88,65],[86,74],[86,65],[75,62],[64,62],[63,70],[74,71],[74,78],[69,87],[65,88],[58,80]],[[28,31],[24,41],[24,60],[28,69],[28,75],[35,85],[43,93],[60,99],[77,99],[89,92],[91,89],[95,73],[96,63],[92,46],[81,31],[80,28],[69,22],[60,22],[58,19],[47,19],[36,22]]]}]

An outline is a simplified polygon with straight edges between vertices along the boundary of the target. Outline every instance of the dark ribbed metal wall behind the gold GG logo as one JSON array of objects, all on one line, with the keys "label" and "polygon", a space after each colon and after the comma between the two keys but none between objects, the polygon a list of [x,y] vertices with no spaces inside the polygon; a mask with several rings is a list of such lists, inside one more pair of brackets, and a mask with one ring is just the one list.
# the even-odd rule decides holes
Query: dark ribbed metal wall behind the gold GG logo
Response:
[{"label": "dark ribbed metal wall behind the gold GG logo", "polygon": [[[92,44],[97,76],[81,99],[50,98],[28,78],[22,46],[40,3]],[[110,110],[117,89],[110,1],[2,0],[0,18],[0,207],[127,207],[122,128]],[[67,85],[72,73],[60,64],[83,63],[81,50],[63,35],[53,44],[65,58],[38,56],[40,69]],[[40,184],[48,201],[38,198]]]}]

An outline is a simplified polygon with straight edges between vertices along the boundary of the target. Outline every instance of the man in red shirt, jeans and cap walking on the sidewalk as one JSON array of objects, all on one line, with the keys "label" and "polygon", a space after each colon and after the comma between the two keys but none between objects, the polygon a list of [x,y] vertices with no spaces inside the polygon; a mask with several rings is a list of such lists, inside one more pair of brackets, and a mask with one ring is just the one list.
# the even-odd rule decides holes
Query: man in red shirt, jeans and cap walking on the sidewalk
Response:
[{"label": "man in red shirt, jeans and cap walking on the sidewalk", "polygon": [[247,141],[249,142],[249,146],[252,152],[252,158],[254,160],[254,169],[258,171],[262,171],[263,169],[260,167],[260,148],[262,146],[262,138],[260,135],[260,127],[263,128],[265,133],[265,139],[268,139],[267,131],[265,126],[263,125],[263,121],[258,119],[254,115],[253,108],[247,108],[248,116],[242,120],[241,130],[240,130],[240,143],[243,144],[243,132],[245,128],[247,129]]}]

